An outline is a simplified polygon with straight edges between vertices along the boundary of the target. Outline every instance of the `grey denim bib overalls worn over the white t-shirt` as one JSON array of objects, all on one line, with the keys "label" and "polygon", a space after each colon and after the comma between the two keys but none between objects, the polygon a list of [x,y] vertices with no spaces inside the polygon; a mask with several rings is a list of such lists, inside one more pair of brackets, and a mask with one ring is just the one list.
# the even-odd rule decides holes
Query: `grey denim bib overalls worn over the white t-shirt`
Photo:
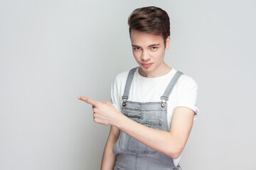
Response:
[{"label": "grey denim bib overalls worn over the white t-shirt", "polygon": [[[132,84],[134,72],[137,67],[131,69],[122,96],[122,113],[128,118],[157,130],[169,131],[167,125],[167,103],[171,91],[174,89],[178,78],[183,74],[177,71],[174,78],[161,96],[161,102],[139,103],[127,101],[129,89]],[[159,96],[160,97],[160,96]],[[178,170],[181,167],[175,166],[171,157],[166,156],[146,145],[138,142],[125,132],[120,131],[117,143],[114,145],[113,153],[117,156],[114,170]]]}]

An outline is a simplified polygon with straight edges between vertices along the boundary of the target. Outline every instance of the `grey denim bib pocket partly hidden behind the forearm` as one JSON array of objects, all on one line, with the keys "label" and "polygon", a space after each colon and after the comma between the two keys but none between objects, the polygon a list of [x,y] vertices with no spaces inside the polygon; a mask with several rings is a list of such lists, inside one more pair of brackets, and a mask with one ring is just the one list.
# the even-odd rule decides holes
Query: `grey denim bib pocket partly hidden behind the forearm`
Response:
[{"label": "grey denim bib pocket partly hidden behind the forearm", "polygon": [[[129,116],[128,116],[129,117]],[[146,125],[149,128],[154,128],[159,130],[161,125],[161,120],[140,120],[139,118],[132,118],[133,120],[141,123],[142,125]],[[127,135],[125,132],[120,132],[120,142],[121,142],[121,150],[124,152],[135,152],[139,154],[154,154],[156,151],[151,149],[150,147],[146,147],[146,145],[142,144],[135,140],[133,137]]]}]

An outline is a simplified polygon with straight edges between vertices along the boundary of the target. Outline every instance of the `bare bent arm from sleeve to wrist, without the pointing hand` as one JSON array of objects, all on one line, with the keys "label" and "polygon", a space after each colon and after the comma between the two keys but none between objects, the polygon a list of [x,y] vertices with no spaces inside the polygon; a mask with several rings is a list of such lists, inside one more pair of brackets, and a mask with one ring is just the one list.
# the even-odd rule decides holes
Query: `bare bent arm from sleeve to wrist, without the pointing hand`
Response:
[{"label": "bare bent arm from sleeve to wrist, without the pointing hand", "polygon": [[193,125],[193,115],[194,112],[189,108],[175,108],[169,132],[148,128],[127,117],[120,118],[116,125],[147,147],[176,159],[188,140]]}]

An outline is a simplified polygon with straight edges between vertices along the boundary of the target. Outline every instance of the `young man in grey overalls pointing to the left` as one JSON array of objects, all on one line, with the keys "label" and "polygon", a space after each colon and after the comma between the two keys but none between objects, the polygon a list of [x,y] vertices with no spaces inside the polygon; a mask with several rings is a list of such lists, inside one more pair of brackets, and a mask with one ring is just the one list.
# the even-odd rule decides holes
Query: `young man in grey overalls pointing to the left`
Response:
[{"label": "young man in grey overalls pointing to the left", "polygon": [[181,169],[180,154],[198,113],[198,86],[164,62],[170,45],[166,11],[137,8],[128,23],[139,67],[117,75],[112,103],[79,97],[92,105],[95,123],[111,125],[102,169]]}]

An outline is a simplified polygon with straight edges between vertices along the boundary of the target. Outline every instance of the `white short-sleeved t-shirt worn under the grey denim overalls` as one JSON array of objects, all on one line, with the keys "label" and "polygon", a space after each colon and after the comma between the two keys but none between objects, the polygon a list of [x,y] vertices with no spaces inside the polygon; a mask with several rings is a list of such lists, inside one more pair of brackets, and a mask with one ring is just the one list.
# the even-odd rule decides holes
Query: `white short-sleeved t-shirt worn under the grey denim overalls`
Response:
[{"label": "white short-sleeved t-shirt worn under the grey denim overalls", "polygon": [[[149,78],[142,77],[137,69],[132,79],[128,101],[136,101],[140,103],[161,102],[160,97],[163,96],[166,87],[176,72],[176,69],[172,68],[171,71],[164,76]],[[122,96],[124,94],[124,87],[128,74],[129,71],[118,74],[112,83],[111,101],[119,112],[122,111]],[[197,94],[198,86],[196,81],[194,81],[191,77],[188,77],[186,74],[181,75],[174,86],[174,89],[171,91],[169,100],[167,101],[167,121],[169,129],[171,115],[174,108],[177,106],[191,108],[191,110],[195,112],[194,120],[196,120],[199,112],[198,108],[196,107]],[[181,157],[174,159],[175,166],[178,165],[180,158]]]}]

